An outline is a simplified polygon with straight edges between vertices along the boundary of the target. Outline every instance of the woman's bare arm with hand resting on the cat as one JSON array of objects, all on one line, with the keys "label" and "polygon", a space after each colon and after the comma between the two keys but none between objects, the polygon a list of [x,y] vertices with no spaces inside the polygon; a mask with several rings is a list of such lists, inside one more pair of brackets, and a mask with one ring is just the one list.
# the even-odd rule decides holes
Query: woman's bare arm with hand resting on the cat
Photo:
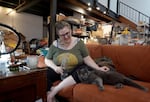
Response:
[{"label": "woman's bare arm with hand resting on the cat", "polygon": [[109,68],[106,66],[99,67],[90,56],[83,58],[83,60],[86,65],[88,65],[96,70],[101,70],[101,71],[105,71],[105,72],[109,70]]}]

